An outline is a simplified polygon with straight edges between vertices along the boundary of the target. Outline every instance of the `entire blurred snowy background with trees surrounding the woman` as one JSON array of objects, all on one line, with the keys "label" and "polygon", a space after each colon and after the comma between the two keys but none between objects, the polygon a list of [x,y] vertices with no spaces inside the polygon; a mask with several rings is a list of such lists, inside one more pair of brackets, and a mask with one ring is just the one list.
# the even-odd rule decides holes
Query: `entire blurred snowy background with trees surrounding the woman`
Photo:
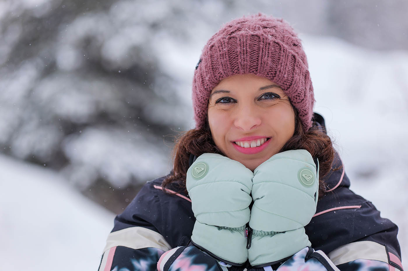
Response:
[{"label": "entire blurred snowy background with trees surrounding the woman", "polygon": [[114,214],[194,125],[202,46],[258,11],[300,33],[315,111],[352,190],[399,225],[405,262],[408,2],[246,2],[0,2],[1,270],[97,268]]}]

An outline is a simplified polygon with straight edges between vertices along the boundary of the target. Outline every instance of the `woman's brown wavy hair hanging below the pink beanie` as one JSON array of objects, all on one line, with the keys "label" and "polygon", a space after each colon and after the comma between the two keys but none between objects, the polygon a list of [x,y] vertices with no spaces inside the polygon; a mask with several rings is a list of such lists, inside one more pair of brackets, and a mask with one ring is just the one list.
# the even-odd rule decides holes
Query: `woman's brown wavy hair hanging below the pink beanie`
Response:
[{"label": "woman's brown wavy hair hanging below the pink beanie", "polygon": [[[324,177],[332,168],[335,150],[324,127],[313,122],[313,126],[305,132],[297,109],[293,107],[293,110],[295,111],[295,132],[279,152],[305,149],[312,155],[313,159],[319,160],[319,198],[321,198],[326,190]],[[172,184],[173,190],[176,189],[177,192],[187,194],[186,174],[190,166],[190,154],[200,156],[203,153],[223,155],[213,141],[208,121],[203,129],[186,131],[177,140],[173,149],[173,170],[162,182],[163,191],[166,191],[166,188]]]}]

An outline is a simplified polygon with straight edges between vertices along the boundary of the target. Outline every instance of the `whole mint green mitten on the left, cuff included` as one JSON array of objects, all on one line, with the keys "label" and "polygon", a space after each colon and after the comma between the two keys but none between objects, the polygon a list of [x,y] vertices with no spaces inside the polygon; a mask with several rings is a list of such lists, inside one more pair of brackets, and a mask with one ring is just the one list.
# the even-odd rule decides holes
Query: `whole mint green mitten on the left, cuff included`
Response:
[{"label": "whole mint green mitten on the left, cuff included", "polygon": [[196,218],[191,240],[231,264],[248,258],[244,229],[250,218],[253,173],[228,157],[204,153],[188,168],[186,186]]}]

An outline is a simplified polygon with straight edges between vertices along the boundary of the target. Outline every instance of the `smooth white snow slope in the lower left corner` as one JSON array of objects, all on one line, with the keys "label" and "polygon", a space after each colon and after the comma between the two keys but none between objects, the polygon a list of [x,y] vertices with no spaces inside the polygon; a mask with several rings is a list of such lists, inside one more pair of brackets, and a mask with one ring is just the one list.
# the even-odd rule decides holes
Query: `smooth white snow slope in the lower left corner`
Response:
[{"label": "smooth white snow slope in the lower left corner", "polygon": [[0,270],[96,270],[113,219],[57,173],[0,155]]}]

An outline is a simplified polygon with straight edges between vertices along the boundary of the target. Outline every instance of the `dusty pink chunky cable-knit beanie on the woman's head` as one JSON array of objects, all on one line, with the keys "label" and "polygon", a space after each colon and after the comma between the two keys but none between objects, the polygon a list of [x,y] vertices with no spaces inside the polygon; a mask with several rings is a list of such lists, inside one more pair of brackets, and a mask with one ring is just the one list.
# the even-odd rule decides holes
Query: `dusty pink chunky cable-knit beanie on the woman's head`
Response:
[{"label": "dusty pink chunky cable-knit beanie on the woman's head", "polygon": [[262,14],[233,20],[204,46],[193,78],[196,129],[204,127],[211,90],[234,74],[277,83],[297,109],[305,131],[312,126],[312,81],[300,39],[284,20]]}]

